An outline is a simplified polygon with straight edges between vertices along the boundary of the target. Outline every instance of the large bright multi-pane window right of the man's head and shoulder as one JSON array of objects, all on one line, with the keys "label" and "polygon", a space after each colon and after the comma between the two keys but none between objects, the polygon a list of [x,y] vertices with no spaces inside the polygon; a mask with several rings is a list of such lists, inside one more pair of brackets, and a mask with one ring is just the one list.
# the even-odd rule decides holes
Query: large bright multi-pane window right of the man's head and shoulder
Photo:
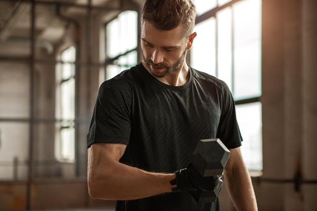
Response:
[{"label": "large bright multi-pane window right of the man's head and shoulder", "polygon": [[224,80],[236,103],[250,171],[262,170],[261,0],[195,1],[192,67]]}]

